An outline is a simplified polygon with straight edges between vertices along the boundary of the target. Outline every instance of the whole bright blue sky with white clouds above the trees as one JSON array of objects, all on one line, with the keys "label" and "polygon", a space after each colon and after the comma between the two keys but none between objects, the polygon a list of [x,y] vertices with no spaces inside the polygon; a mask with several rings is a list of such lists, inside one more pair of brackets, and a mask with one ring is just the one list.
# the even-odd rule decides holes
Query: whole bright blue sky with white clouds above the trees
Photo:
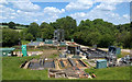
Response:
[{"label": "whole bright blue sky with white clouds above the trees", "polygon": [[36,22],[55,22],[64,16],[77,21],[103,19],[113,24],[130,22],[130,0],[55,0],[47,1],[6,1],[0,2],[0,22],[30,24]]}]

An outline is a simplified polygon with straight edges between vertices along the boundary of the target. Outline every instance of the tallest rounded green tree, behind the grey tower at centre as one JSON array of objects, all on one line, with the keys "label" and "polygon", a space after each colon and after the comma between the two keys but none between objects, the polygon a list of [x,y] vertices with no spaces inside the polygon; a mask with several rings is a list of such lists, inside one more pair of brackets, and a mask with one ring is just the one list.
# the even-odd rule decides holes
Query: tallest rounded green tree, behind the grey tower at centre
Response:
[{"label": "tallest rounded green tree, behind the grey tower at centre", "polygon": [[70,16],[62,17],[56,20],[56,22],[51,23],[54,28],[62,28],[65,31],[65,38],[70,39],[74,32],[76,32],[76,20]]}]

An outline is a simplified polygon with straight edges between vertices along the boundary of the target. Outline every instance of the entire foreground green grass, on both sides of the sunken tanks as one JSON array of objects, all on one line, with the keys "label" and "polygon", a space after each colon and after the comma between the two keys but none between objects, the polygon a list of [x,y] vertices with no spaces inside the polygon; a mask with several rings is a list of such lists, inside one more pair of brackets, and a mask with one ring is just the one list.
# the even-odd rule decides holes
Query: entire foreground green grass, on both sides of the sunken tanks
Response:
[{"label": "entire foreground green grass, on both sides of the sunken tanks", "polygon": [[[3,80],[55,80],[48,79],[47,70],[21,69],[25,61],[36,57],[3,57],[2,79]],[[97,78],[92,80],[130,80],[130,67],[116,67],[107,69],[87,69],[86,72],[94,72]],[[57,79],[65,80],[65,79]],[[80,79],[79,79],[80,80]],[[86,80],[86,79],[82,79]]]}]

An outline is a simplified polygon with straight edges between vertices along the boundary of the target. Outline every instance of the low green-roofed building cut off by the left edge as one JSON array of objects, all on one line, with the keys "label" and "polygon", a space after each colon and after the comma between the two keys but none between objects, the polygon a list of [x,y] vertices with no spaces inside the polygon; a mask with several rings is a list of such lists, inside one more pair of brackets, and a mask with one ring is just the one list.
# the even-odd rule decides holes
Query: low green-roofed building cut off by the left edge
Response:
[{"label": "low green-roofed building cut off by the left edge", "polygon": [[0,48],[0,55],[2,55],[2,57],[12,56],[14,49],[15,48]]}]

